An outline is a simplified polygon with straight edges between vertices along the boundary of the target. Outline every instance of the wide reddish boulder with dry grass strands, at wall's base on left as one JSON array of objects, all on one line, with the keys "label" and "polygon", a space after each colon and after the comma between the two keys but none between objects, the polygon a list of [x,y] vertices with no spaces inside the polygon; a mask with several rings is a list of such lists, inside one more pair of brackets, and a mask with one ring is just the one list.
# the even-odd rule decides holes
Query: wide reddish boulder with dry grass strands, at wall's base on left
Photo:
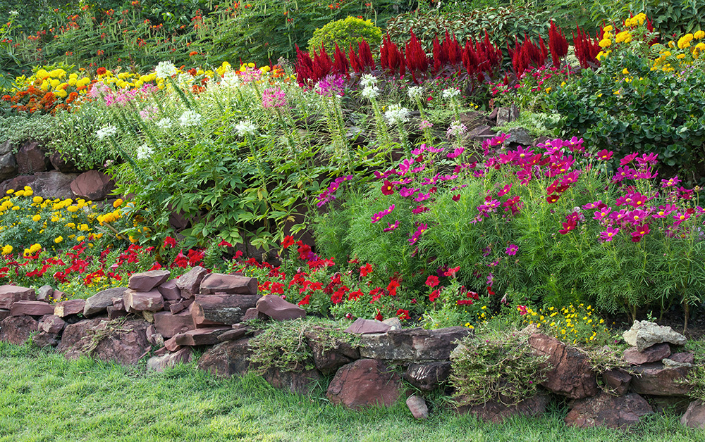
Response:
[{"label": "wide reddish boulder with dry grass strands, at wall's base on left", "polygon": [[147,327],[149,323],[143,320],[83,320],[66,326],[57,350],[68,359],[88,355],[132,365],[151,348]]}]

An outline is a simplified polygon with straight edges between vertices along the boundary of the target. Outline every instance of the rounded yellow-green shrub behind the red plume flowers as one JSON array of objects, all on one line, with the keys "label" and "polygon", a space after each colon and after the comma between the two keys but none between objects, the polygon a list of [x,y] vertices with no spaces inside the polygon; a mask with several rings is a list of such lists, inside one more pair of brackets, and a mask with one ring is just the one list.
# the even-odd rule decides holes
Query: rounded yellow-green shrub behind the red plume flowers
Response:
[{"label": "rounded yellow-green shrub behind the red plume flowers", "polygon": [[382,39],[382,30],[376,27],[371,20],[362,20],[357,17],[348,17],[328,23],[313,32],[309,39],[309,51],[320,51],[324,46],[326,53],[332,54],[336,44],[345,53],[352,45],[357,51],[357,44],[365,40],[372,50],[379,46]]}]

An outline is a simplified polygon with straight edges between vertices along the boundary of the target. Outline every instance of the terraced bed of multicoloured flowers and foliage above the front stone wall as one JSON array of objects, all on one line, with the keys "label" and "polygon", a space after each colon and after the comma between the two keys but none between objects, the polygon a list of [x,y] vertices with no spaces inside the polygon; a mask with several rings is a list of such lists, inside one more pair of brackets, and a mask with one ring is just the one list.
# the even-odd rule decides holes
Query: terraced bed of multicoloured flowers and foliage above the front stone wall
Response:
[{"label": "terraced bed of multicoloured flowers and foliage above the front stone wall", "polygon": [[[8,189],[2,284],[88,298],[200,265],[344,327],[534,326],[586,351],[635,320],[704,333],[705,27],[685,15],[112,3],[31,32],[0,11],[0,142],[116,183]],[[275,13],[290,37],[266,44]]]}]

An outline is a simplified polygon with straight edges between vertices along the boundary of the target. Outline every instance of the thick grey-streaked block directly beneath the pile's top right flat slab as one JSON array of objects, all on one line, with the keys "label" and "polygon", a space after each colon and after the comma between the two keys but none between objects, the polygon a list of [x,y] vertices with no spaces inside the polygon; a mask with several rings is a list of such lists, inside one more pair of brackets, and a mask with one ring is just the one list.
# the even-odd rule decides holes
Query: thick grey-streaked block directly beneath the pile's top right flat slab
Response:
[{"label": "thick grey-streaked block directly beneath the pile's top right flat slab", "polygon": [[196,295],[191,314],[196,324],[237,324],[248,308],[257,305],[259,295]]}]

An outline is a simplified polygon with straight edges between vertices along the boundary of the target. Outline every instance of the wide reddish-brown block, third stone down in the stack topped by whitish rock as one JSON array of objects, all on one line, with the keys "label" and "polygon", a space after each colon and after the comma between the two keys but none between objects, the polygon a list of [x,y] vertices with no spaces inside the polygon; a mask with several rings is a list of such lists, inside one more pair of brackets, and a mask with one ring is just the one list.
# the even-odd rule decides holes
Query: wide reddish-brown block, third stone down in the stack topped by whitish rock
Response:
[{"label": "wide reddish-brown block, third stone down in the stack topped by whitish rock", "polygon": [[661,362],[633,367],[632,391],[653,396],[687,396],[689,386],[680,384],[689,367],[664,367]]}]

